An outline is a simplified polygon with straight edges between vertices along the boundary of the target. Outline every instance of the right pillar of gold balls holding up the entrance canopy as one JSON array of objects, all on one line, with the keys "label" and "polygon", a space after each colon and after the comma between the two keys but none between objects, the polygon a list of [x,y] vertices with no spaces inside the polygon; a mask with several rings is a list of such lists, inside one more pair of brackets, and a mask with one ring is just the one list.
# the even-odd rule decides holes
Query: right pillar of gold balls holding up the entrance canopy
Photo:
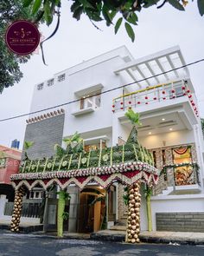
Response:
[{"label": "right pillar of gold balls holding up the entrance canopy", "polygon": [[125,241],[134,244],[140,242],[139,233],[141,194],[139,181],[129,186],[128,194],[128,219]]}]

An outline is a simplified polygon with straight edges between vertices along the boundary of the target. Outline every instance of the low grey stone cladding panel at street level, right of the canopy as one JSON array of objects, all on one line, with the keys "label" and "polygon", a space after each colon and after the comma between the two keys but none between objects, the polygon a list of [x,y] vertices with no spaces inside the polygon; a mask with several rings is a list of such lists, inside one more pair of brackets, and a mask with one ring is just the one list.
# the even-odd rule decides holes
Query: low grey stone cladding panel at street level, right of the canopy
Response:
[{"label": "low grey stone cladding panel at street level, right of the canopy", "polygon": [[156,230],[204,232],[204,213],[156,213]]}]

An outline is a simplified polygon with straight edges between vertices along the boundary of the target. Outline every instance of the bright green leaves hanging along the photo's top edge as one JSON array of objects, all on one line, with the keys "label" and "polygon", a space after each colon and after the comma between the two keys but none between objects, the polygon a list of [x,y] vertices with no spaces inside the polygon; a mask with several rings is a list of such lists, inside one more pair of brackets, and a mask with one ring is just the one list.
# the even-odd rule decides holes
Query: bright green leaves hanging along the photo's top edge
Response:
[{"label": "bright green leaves hanging along the photo's top edge", "polygon": [[[82,14],[85,14],[93,26],[97,29],[99,27],[95,24],[105,21],[106,26],[114,25],[115,34],[121,28],[121,23],[124,20],[124,28],[131,38],[135,41],[135,33],[132,25],[137,25],[137,14],[142,9],[147,9],[153,5],[157,5],[160,9],[166,3],[169,3],[177,10],[185,10],[188,4],[187,0],[69,0],[71,4],[71,12],[76,20],[80,20]],[[61,6],[61,0],[22,0],[23,6],[32,6],[32,14],[35,16],[35,21],[45,20],[49,25],[53,22],[53,16],[56,13],[56,8]],[[203,16],[204,14],[204,0],[198,0],[198,9]],[[114,18],[117,17],[115,23]]]}]

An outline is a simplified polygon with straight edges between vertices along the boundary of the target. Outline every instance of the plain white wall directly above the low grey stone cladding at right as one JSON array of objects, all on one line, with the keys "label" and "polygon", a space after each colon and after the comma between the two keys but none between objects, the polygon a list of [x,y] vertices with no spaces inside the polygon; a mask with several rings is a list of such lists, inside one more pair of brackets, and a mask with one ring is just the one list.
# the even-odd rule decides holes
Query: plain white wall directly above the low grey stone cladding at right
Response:
[{"label": "plain white wall directly above the low grey stone cladding at right", "polygon": [[156,213],[204,214],[204,194],[152,196],[151,213],[153,231],[156,231]]}]

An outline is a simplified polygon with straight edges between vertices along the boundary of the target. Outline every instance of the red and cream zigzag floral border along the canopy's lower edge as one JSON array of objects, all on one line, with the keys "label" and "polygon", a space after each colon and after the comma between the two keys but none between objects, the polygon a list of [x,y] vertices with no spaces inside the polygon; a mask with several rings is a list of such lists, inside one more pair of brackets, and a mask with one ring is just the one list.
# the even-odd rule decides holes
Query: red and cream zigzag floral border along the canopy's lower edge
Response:
[{"label": "red and cream zigzag floral border along the canopy's lower edge", "polygon": [[141,161],[134,161],[113,165],[112,167],[90,167],[70,171],[12,174],[10,181],[12,181],[11,184],[16,189],[22,185],[32,189],[37,184],[46,189],[53,183],[57,183],[61,188],[75,184],[82,189],[92,181],[97,182],[102,187],[109,187],[114,181],[119,181],[124,185],[131,185],[136,181],[156,185],[159,174],[160,171],[155,167]]}]

